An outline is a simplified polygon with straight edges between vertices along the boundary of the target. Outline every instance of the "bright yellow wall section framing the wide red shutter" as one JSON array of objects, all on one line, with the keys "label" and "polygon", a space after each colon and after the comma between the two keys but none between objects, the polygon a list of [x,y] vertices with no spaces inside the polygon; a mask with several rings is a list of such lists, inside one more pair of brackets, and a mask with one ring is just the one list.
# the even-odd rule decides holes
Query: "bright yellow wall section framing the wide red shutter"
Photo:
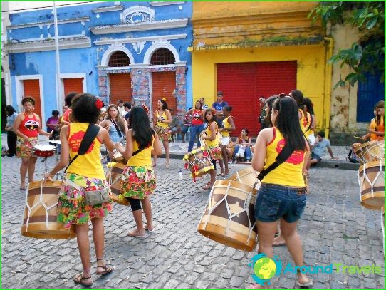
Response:
[{"label": "bright yellow wall section framing the wide red shutter", "polygon": [[[318,127],[323,125],[325,46],[273,46],[230,50],[192,51],[194,100],[211,105],[216,95],[216,63],[298,61],[297,89],[314,103]],[[285,73],[285,72],[283,72]],[[288,92],[289,93],[289,92]],[[256,96],[257,98],[257,96]]]}]

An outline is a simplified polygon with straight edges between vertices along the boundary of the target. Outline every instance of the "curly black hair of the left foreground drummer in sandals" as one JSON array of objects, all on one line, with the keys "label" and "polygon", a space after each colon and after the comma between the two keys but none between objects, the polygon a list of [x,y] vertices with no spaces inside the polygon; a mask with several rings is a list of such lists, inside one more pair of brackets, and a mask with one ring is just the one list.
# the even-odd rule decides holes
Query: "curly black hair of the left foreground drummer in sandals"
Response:
[{"label": "curly black hair of the left foreground drummer in sandals", "polygon": [[100,109],[96,106],[97,98],[90,93],[76,95],[71,103],[73,118],[79,123],[97,123]]}]

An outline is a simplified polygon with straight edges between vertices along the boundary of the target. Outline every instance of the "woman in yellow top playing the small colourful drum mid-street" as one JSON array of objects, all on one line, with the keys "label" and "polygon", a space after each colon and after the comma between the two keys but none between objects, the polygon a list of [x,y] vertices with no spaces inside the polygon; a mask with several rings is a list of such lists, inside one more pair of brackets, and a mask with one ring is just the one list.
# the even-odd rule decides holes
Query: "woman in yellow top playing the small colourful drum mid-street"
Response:
[{"label": "woman in yellow top playing the small colourful drum mid-street", "polygon": [[204,190],[210,190],[216,181],[216,160],[221,160],[221,148],[219,146],[219,141],[216,138],[217,135],[217,123],[216,115],[212,112],[212,109],[205,110],[204,113],[205,122],[208,123],[207,129],[202,131],[201,138],[204,140],[205,145],[209,150],[209,154],[212,157],[212,163],[214,170],[210,170],[210,181],[204,185]]}]

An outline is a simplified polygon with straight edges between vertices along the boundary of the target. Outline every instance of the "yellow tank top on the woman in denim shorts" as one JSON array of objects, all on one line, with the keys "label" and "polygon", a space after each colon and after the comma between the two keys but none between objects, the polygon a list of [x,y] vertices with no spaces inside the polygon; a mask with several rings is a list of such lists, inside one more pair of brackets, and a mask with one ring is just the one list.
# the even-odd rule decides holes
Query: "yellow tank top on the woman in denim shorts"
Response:
[{"label": "yellow tank top on the woman in denim shorts", "polygon": [[[266,165],[264,169],[275,162],[276,157],[281,150],[283,150],[284,145],[286,145],[286,140],[284,140],[283,135],[281,135],[281,132],[277,128],[273,127],[273,140],[266,147]],[[302,170],[305,154],[305,151],[293,152],[286,162],[283,162],[275,170],[269,172],[261,182],[272,183],[274,185],[304,187]]]}]

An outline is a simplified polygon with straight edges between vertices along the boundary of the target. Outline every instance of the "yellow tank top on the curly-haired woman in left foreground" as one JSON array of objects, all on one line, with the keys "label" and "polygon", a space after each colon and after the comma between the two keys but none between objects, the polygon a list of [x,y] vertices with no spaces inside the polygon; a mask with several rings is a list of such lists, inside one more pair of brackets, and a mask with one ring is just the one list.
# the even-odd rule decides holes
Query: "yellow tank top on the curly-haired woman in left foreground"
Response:
[{"label": "yellow tank top on the curly-haired woman in left foreground", "polygon": [[[78,154],[80,142],[87,128],[88,123],[70,123],[70,125],[68,125],[68,145],[70,145],[71,160]],[[105,172],[100,162],[101,144],[100,139],[98,137],[95,138],[85,155],[78,155],[76,160],[68,167],[67,172],[105,180]]]}]

